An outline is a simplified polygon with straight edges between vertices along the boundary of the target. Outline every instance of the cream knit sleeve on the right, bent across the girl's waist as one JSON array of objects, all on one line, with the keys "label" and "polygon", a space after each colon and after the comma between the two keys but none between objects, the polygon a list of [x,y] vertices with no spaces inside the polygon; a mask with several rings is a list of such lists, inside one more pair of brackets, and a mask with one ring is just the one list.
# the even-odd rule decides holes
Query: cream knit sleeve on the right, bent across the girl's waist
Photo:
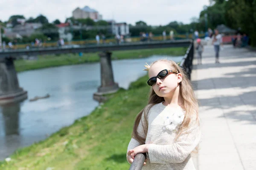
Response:
[{"label": "cream knit sleeve on the right, bent across the girl's waist", "polygon": [[188,129],[181,133],[174,144],[150,144],[148,156],[150,163],[169,164],[181,163],[186,160],[200,141],[200,127],[196,118],[192,118]]}]

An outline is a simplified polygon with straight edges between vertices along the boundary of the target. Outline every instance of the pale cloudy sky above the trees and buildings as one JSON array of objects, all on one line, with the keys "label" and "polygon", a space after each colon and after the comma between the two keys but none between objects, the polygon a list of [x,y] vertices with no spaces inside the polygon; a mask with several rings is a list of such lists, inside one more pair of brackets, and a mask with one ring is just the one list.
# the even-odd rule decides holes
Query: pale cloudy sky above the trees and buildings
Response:
[{"label": "pale cloudy sky above the trees and buildings", "polygon": [[190,23],[199,17],[209,0],[0,0],[0,20],[22,14],[26,19],[43,14],[49,22],[64,22],[77,7],[89,6],[102,14],[103,20],[135,24],[143,20],[148,25],[166,25],[171,21]]}]

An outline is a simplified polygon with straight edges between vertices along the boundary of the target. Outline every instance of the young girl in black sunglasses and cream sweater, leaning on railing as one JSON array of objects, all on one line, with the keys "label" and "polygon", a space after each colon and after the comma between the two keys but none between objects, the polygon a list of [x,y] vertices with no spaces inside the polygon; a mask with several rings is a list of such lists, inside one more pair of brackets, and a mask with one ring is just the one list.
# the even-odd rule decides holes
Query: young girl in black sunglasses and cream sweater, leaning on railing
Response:
[{"label": "young girl in black sunglasses and cream sweater, leaning on railing", "polygon": [[127,160],[146,153],[143,170],[195,170],[190,153],[198,146],[198,102],[186,74],[174,61],[145,66],[152,86],[148,105],[137,115]]}]

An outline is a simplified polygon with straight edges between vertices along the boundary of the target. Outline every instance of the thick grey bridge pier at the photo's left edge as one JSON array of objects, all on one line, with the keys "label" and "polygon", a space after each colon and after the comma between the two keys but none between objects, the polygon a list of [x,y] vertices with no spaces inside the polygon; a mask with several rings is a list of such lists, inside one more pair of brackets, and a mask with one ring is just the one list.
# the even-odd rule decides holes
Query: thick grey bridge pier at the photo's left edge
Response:
[{"label": "thick grey bridge pier at the photo's left edge", "polygon": [[0,104],[9,104],[27,98],[27,91],[20,88],[13,58],[0,60]]}]

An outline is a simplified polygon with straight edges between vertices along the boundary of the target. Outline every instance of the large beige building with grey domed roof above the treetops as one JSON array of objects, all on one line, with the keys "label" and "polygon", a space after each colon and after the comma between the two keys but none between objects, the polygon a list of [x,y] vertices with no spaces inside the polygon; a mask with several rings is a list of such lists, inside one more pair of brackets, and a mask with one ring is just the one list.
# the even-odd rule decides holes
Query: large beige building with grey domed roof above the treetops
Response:
[{"label": "large beige building with grey domed roof above the treetops", "polygon": [[75,19],[86,19],[90,18],[92,20],[102,20],[102,15],[99,14],[95,9],[91,9],[89,6],[84,6],[84,8],[80,9],[77,7],[73,12],[72,16]]}]

